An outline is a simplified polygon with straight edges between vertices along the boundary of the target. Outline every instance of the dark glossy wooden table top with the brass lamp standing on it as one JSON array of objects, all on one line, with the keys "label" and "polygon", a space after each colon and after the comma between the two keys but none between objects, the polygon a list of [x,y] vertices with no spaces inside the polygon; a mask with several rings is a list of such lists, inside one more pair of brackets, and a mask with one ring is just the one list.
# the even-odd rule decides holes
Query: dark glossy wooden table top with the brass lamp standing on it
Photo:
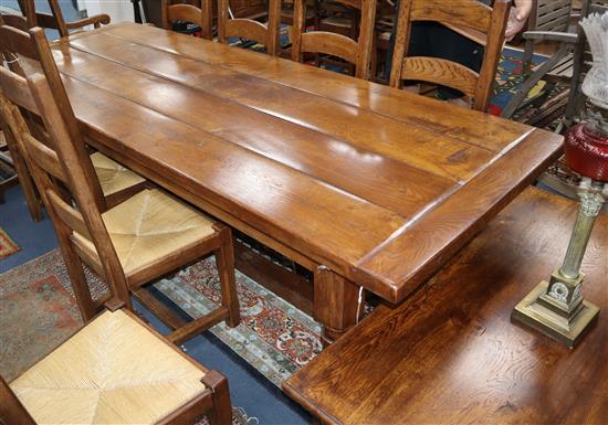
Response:
[{"label": "dark glossy wooden table top with the brass lamp standing on it", "polygon": [[562,263],[578,203],[530,188],[424,287],[377,308],[283,385],[327,423],[608,424],[608,213],[581,272],[601,308],[574,349],[511,322]]}]

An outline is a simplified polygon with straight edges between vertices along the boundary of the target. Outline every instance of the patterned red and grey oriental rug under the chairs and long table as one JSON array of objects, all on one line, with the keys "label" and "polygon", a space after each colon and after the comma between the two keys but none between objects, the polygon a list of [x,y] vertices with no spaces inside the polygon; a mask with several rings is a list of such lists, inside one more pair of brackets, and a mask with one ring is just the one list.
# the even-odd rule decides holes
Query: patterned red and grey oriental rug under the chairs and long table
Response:
[{"label": "patterned red and grey oriental rug under the chairs and long table", "polygon": [[[105,291],[86,270],[96,298]],[[321,327],[311,317],[237,272],[241,325],[211,332],[277,386],[322,350]],[[213,258],[154,284],[191,317],[220,304]],[[81,327],[61,253],[54,249],[0,275],[0,374],[11,381]]]}]

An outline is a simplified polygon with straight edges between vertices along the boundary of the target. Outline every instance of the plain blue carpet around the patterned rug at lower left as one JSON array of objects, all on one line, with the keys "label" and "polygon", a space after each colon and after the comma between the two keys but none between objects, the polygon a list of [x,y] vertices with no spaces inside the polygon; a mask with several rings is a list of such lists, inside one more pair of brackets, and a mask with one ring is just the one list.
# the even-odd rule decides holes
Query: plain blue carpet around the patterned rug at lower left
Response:
[{"label": "plain blue carpet around the patterned rug at lower left", "polygon": [[[0,205],[0,225],[22,249],[0,259],[0,273],[57,246],[50,220],[45,217],[42,222],[34,223],[30,219],[19,187],[7,191],[6,199],[7,203]],[[141,306],[136,308],[143,311],[158,331],[167,333],[168,329],[153,315]],[[311,422],[311,417],[303,408],[210,332],[191,339],[184,348],[193,359],[228,378],[232,405],[243,407],[248,416],[260,421],[260,425],[304,425]]]}]

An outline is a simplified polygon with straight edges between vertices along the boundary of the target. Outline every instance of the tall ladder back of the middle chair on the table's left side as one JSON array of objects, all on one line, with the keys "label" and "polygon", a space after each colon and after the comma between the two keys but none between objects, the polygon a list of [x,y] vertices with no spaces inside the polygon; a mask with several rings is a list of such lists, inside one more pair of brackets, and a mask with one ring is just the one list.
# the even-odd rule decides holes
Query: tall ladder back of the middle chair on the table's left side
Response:
[{"label": "tall ladder back of the middle chair on the table's left side", "polygon": [[[39,30],[34,31],[33,36],[38,42],[36,46],[45,45],[49,49],[42,30]],[[104,275],[102,277],[109,284],[111,294],[130,308],[124,270],[102,220],[103,209],[97,204],[99,182],[72,109],[65,109],[50,81],[39,73],[25,79],[0,68],[0,114],[24,152],[25,161],[55,226],[64,258],[81,256],[92,264],[101,265],[99,269]],[[49,130],[51,146],[32,136],[20,108],[42,118],[44,128]],[[65,119],[70,116],[74,128],[70,128],[71,124]],[[94,258],[81,252],[72,242],[75,232],[93,243]],[[82,267],[78,269],[82,273]],[[92,318],[96,307],[91,294],[78,286],[74,286],[74,290],[80,307],[84,309],[83,316]]]}]

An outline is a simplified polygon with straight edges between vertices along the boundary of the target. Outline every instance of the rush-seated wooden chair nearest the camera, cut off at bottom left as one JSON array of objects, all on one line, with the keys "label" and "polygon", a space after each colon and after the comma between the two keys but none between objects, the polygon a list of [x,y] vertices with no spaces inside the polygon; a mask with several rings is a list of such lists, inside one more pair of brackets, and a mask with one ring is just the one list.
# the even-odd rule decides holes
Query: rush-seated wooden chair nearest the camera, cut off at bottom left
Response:
[{"label": "rush-seated wooden chair nearest the camera, cut off at bottom left", "polygon": [[227,379],[120,306],[12,382],[0,376],[0,424],[231,424]]}]

